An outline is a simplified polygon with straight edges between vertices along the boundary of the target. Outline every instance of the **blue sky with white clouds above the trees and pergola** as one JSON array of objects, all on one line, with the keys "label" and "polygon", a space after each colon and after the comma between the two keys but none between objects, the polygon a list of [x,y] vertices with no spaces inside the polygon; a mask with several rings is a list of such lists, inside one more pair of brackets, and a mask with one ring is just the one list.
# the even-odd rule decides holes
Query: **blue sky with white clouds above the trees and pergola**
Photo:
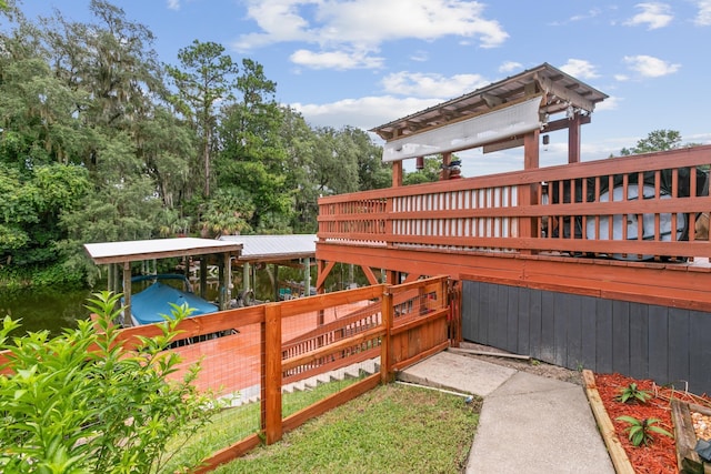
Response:
[{"label": "blue sky with white clouds above the trees and pergola", "polygon": [[[610,95],[582,128],[582,160],[652,130],[711,143],[711,0],[116,0],[157,37],[161,61],[194,39],[251,58],[277,100],[312,125],[364,130],[548,62]],[[88,21],[89,0],[24,0]],[[565,162],[551,134],[541,165]],[[460,153],[462,174],[522,168],[522,149]],[[411,161],[411,160],[410,160]],[[412,163],[413,164],[413,163]],[[409,168],[409,164],[405,165]]]}]

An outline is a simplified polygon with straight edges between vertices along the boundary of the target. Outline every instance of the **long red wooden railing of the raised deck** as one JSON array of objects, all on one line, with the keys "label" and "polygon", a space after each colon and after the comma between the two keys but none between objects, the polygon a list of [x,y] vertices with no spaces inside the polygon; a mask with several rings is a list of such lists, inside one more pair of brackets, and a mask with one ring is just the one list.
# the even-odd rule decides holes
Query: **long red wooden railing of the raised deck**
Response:
[{"label": "long red wooden railing of the raised deck", "polygon": [[694,226],[711,210],[709,163],[703,145],[327,196],[318,235],[432,252],[708,258]]}]

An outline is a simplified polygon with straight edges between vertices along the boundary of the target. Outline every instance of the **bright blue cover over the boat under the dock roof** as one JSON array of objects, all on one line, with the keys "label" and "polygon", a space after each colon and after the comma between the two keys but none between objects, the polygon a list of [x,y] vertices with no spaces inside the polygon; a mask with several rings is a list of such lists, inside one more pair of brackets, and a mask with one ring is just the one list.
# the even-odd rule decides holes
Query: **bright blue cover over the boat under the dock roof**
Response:
[{"label": "bright blue cover over the boat under the dock roof", "polygon": [[188,303],[194,309],[190,316],[214,313],[218,306],[201,299],[197,294],[180,291],[173,286],[156,282],[146,290],[131,297],[131,314],[139,324],[152,324],[166,321],[163,315],[170,316],[173,307],[170,303],[181,306]]}]

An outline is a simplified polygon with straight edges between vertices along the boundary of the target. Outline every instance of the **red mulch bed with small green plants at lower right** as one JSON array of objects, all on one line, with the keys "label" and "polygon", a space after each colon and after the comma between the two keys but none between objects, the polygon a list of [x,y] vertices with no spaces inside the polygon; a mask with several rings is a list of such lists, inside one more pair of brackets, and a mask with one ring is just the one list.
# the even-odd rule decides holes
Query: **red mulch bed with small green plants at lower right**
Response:
[{"label": "red mulch bed with small green plants at lower right", "polygon": [[[662,387],[651,380],[637,380],[620,374],[594,374],[595,386],[602,399],[602,403],[614,425],[614,431],[624,447],[627,456],[638,474],[675,474],[677,470],[677,445],[674,440],[662,434],[652,433],[653,441],[649,446],[634,446],[628,438],[625,428],[629,423],[619,422],[618,416],[628,415],[638,420],[658,418],[657,424],[670,433],[674,433],[671,421],[671,399],[711,406],[711,399],[705,395],[694,395],[688,392]],[[637,383],[639,390],[648,391],[652,397],[647,403],[629,402],[622,403],[615,399],[621,390]]]}]

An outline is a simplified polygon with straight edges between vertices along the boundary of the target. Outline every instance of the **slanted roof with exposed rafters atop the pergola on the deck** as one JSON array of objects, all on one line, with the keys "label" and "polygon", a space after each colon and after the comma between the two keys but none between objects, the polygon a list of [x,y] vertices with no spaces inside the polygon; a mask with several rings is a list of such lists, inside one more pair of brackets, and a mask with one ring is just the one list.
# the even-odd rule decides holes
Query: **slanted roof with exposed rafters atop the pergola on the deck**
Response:
[{"label": "slanted roof with exposed rafters atop the pergola on the deck", "polygon": [[569,107],[591,113],[607,94],[543,63],[457,99],[371,129],[385,141],[440,127],[449,122],[484,114],[537,94],[544,94],[541,113],[553,115]]}]

